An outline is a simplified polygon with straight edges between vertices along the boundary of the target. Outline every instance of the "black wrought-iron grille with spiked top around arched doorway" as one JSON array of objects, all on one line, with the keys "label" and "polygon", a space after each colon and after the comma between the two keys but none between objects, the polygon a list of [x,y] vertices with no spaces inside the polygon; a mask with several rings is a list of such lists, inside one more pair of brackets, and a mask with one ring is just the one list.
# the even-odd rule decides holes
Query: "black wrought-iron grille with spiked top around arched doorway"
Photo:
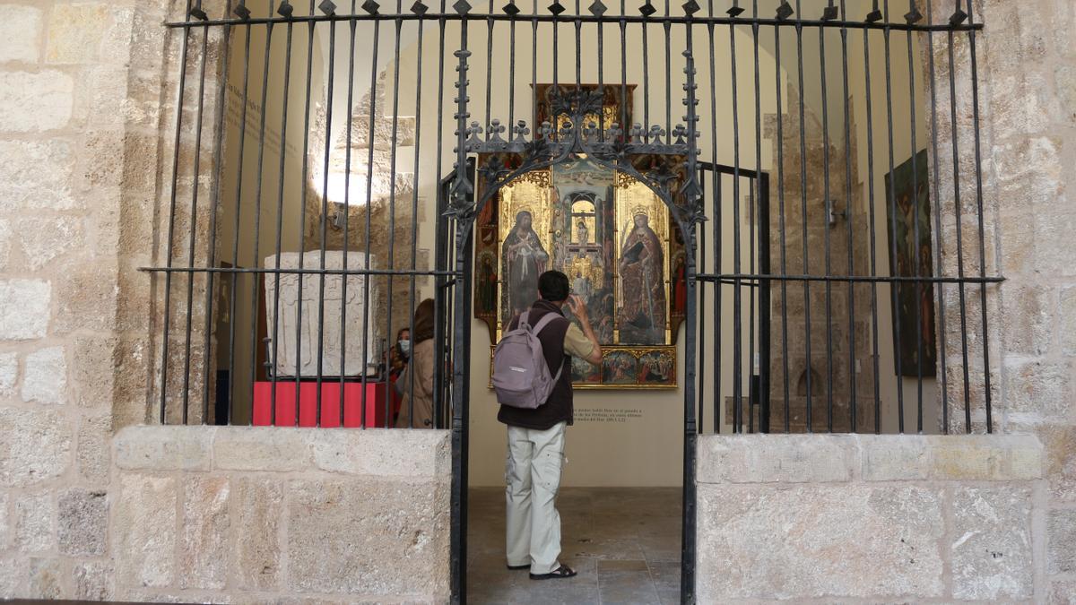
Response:
[{"label": "black wrought-iron grille with spiked top around arched doorway", "polygon": [[[151,416],[251,423],[268,384],[280,424],[280,384],[312,383],[312,423],[339,426],[357,383],[358,424],[388,425],[388,397],[368,418],[368,386],[385,340],[413,334],[433,298],[433,425],[453,434],[465,601],[475,219],[514,178],[585,154],[647,184],[690,251],[685,603],[696,435],[992,431],[1001,278],[988,273],[971,2],[742,4],[188,1],[167,24],[176,127],[164,250],[146,268],[161,318]],[[528,122],[543,82],[566,123]],[[635,86],[638,124],[626,110],[589,124],[594,83]],[[505,153],[523,159],[482,159]],[[643,155],[661,159],[632,161]],[[282,283],[315,292],[306,314],[297,296],[291,330]]]}]

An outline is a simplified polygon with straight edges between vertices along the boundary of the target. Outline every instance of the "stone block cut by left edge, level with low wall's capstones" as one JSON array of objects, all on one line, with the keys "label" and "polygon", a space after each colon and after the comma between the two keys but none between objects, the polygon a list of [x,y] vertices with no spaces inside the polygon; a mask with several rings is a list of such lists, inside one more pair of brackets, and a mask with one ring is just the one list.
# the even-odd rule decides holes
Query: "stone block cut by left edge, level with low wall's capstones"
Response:
[{"label": "stone block cut by left edge, level with low wall's capstones", "polygon": [[25,487],[70,466],[71,427],[53,410],[0,408],[0,486]]}]

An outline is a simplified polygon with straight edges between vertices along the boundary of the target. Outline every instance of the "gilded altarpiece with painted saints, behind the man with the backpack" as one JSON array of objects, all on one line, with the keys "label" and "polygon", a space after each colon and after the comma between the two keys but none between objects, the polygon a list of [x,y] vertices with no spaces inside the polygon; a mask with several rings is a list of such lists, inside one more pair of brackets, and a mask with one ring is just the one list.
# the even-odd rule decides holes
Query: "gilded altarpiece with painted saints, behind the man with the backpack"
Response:
[{"label": "gilded altarpiece with painted saints, behind the man with the backpack", "polygon": [[[550,89],[536,87],[541,122],[551,121]],[[605,126],[620,123],[620,93],[619,85],[606,87]],[[506,153],[479,161],[490,160],[512,169],[522,158]],[[679,166],[677,158],[631,160],[637,169],[656,161]],[[643,183],[572,154],[502,184],[480,210],[476,231],[475,315],[490,326],[492,344],[538,298],[538,276],[556,269],[586,302],[604,351],[600,367],[574,361],[576,386],[676,388],[675,339],[686,291],[683,236]],[[565,314],[575,320],[567,309]]]}]

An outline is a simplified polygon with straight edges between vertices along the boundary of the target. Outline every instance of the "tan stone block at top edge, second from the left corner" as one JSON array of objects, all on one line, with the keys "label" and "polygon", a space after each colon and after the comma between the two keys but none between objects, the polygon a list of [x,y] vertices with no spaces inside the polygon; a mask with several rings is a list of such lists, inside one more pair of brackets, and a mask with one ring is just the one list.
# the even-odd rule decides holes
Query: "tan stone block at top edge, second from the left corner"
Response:
[{"label": "tan stone block at top edge, second from the left corner", "polygon": [[100,56],[101,33],[108,29],[104,2],[57,4],[48,19],[45,60],[51,64],[94,62]]}]

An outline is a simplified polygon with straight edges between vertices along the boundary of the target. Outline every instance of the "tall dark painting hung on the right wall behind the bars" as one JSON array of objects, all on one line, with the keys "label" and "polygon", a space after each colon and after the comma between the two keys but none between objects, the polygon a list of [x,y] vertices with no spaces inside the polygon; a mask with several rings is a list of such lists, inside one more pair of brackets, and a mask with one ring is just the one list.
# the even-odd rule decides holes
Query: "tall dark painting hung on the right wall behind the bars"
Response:
[{"label": "tall dark painting hung on the right wall behind the bars", "polygon": [[[934,275],[929,178],[926,150],[886,174],[886,215],[892,240],[889,270],[893,277]],[[894,370],[907,377],[936,376],[934,286],[907,281],[893,289],[893,348],[900,360]]]}]

